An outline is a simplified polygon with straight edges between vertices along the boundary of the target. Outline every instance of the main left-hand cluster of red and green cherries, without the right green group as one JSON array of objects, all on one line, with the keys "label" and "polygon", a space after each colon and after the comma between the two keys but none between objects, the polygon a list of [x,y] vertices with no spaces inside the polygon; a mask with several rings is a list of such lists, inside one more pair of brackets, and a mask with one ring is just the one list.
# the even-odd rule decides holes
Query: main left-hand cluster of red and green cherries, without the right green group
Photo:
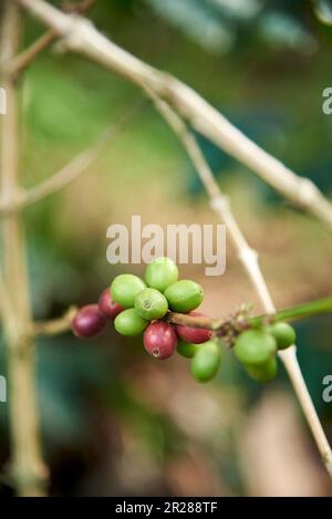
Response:
[{"label": "main left-hand cluster of red and green cherries, without the right green group", "polygon": [[129,273],[114,278],[97,304],[89,304],[76,312],[72,330],[79,338],[94,338],[113,321],[122,335],[143,333],[145,350],[155,359],[168,359],[176,351],[191,359],[194,377],[207,382],[220,365],[220,347],[210,330],[173,324],[165,319],[169,311],[206,318],[195,311],[203,299],[198,283],[178,280],[174,261],[158,258],[147,266],[144,280]]}]

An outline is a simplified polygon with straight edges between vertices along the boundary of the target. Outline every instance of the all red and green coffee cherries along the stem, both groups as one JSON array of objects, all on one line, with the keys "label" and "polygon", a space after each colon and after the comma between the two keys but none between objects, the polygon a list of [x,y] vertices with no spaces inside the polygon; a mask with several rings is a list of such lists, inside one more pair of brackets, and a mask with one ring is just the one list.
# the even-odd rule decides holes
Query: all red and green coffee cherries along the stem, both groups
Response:
[{"label": "all red and green coffee cherries along the stem, both groups", "polygon": [[[129,273],[117,276],[97,304],[89,304],[76,312],[72,330],[80,338],[93,338],[113,321],[122,335],[143,334],[145,350],[155,359],[168,359],[176,351],[190,359],[194,378],[208,382],[219,370],[222,339],[214,336],[208,329],[173,324],[167,319],[169,311],[206,318],[197,311],[203,299],[198,283],[178,280],[174,261],[158,258],[147,266],[144,280]],[[294,340],[294,330],[278,322],[246,329],[237,333],[231,345],[252,378],[269,382],[277,374],[278,349],[288,347]]]}]

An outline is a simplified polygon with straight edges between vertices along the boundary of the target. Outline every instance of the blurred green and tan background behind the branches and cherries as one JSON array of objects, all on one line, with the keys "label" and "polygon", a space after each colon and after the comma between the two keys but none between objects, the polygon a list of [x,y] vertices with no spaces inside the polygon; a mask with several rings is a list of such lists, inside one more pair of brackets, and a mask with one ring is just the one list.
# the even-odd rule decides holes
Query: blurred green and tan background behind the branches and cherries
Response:
[{"label": "blurred green and tan background behind the branches and cherries", "polygon": [[[55,2],[58,6],[60,2]],[[100,0],[90,13],[106,35],[194,86],[259,145],[332,193],[332,28],[310,1]],[[329,18],[329,3],[320,3]],[[332,11],[331,11],[332,12]],[[24,44],[42,33],[27,17]],[[80,56],[44,52],[20,84],[25,186],[52,175],[139,103],[142,94]],[[331,236],[251,172],[199,137],[232,200],[278,307],[332,292]],[[146,104],[106,153],[65,190],[25,211],[34,314],[59,316],[96,301],[112,278],[143,267],[106,261],[106,229],[141,215],[154,222],[217,224],[180,145]],[[203,310],[224,316],[243,302],[261,310],[228,247],[227,271],[200,282]],[[331,316],[297,325],[299,360],[332,440]],[[6,373],[3,345],[0,372]],[[38,397],[52,495],[331,496],[287,376],[250,382],[229,352],[217,380],[196,384],[178,355],[153,361],[142,339],[112,330],[82,342],[41,340]],[[9,463],[7,406],[0,405],[0,466]],[[11,494],[6,480],[0,495]]]}]

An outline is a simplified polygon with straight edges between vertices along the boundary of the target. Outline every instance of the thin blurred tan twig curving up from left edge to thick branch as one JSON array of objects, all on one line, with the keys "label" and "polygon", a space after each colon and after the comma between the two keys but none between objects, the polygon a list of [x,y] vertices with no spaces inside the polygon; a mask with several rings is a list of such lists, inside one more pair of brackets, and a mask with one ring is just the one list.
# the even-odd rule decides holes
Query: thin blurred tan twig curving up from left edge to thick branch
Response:
[{"label": "thin blurred tan twig curving up from left edge to thick branch", "polygon": [[0,201],[0,216],[8,216],[13,212],[20,211],[48,196],[54,195],[59,190],[69,186],[89,167],[107,150],[108,146],[122,134],[122,132],[134,121],[134,118],[146,106],[145,98],[135,101],[129,110],[121,117],[121,120],[111,128],[108,128],[103,136],[90,148],[80,153],[69,164],[63,166],[51,177],[46,178],[39,185],[28,189],[21,190],[17,194],[15,198],[10,203],[6,199]]}]

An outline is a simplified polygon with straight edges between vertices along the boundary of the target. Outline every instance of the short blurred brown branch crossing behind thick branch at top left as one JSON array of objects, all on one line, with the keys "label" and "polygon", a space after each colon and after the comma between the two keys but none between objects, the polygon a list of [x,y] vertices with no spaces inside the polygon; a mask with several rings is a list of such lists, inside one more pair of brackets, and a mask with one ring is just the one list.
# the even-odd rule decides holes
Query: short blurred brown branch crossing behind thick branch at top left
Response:
[{"label": "short blurred brown branch crossing behind thick branch at top left", "polygon": [[[64,10],[72,14],[84,14],[89,11],[97,0],[83,0],[80,3],[70,4],[64,8]],[[10,64],[10,73],[14,79],[18,79],[19,75],[25,70],[35,58],[48,46],[51,45],[58,39],[58,32],[53,29],[44,32],[40,38],[38,38],[33,43],[31,43],[28,49],[17,55]]]}]

